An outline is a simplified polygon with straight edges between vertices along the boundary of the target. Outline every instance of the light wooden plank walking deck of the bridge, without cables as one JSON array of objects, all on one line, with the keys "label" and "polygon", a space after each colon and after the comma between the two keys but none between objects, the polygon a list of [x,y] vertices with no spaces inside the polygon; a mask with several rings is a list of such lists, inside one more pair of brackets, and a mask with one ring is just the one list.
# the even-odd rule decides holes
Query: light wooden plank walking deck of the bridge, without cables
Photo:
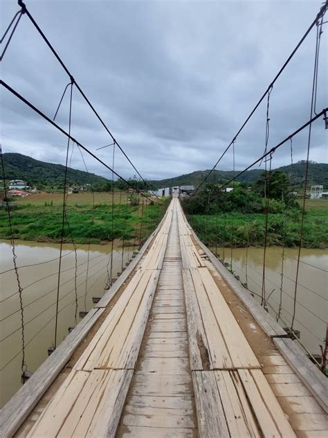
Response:
[{"label": "light wooden plank walking deck of the bridge, without cables", "polygon": [[226,288],[172,200],[120,298],[27,436],[327,436],[320,405],[250,314],[251,329],[242,331]]}]

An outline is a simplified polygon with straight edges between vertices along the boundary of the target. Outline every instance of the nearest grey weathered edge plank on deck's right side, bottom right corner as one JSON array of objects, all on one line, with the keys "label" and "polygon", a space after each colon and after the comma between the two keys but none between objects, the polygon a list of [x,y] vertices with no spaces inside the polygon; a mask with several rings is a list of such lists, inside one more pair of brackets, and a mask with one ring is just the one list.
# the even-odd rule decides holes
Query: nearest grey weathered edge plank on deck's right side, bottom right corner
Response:
[{"label": "nearest grey weathered edge plank on deck's right side, bottom right corner", "polygon": [[291,339],[273,340],[280,349],[282,356],[298,375],[309,392],[320,403],[321,408],[328,413],[328,383],[327,378],[319,371]]}]

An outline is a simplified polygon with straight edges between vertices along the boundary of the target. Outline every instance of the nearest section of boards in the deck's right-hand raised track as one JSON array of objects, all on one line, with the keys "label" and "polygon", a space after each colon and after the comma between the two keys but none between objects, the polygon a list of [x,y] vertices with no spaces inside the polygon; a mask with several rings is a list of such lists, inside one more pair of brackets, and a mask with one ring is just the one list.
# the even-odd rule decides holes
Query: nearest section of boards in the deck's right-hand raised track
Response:
[{"label": "nearest section of boards in the deck's right-hand raised track", "polygon": [[295,437],[260,370],[192,375],[201,437]]}]

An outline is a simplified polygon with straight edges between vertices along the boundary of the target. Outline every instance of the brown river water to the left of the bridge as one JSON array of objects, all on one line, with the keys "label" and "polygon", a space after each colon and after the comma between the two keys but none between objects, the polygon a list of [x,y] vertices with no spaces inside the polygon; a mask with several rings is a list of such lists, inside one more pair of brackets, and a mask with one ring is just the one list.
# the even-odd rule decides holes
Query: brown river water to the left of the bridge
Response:
[{"label": "brown river water to the left of the bridge", "polygon": [[[90,310],[92,297],[102,297],[110,272],[111,243],[107,245],[78,245],[75,301],[75,252],[73,245],[64,245],[60,276],[60,301],[58,313],[57,345],[68,334],[69,326],[80,322],[80,310]],[[122,270],[122,247],[114,246],[113,278]],[[132,255],[132,247],[125,247],[123,265]],[[58,257],[57,244],[15,240],[15,252],[19,267],[26,342],[26,364],[35,371],[48,357],[48,347],[54,342],[55,311],[57,301]],[[0,407],[21,386],[21,312],[17,277],[13,268],[12,249],[8,240],[0,240]],[[89,270],[88,270],[89,254]],[[44,263],[44,262],[47,263]],[[39,264],[37,264],[39,263]],[[33,266],[26,266],[33,265]],[[26,266],[26,267],[23,267]],[[86,273],[88,281],[86,283]],[[16,357],[15,357],[16,356]],[[13,358],[13,359],[12,359]]]}]

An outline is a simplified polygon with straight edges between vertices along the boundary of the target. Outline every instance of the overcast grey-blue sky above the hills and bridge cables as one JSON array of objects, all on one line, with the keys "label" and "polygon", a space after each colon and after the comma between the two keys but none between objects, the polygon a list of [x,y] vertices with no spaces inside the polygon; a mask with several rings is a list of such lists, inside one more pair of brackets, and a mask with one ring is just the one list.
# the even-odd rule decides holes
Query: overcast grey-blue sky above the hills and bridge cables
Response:
[{"label": "overcast grey-blue sky above the hills and bridge cables", "polygon": [[[18,10],[1,0],[1,35]],[[311,1],[32,1],[39,26],[140,173],[148,179],[211,168],[311,24],[321,0]],[[327,19],[326,14],[326,18]],[[328,105],[328,24],[320,46],[317,111]],[[309,119],[316,30],[276,82],[270,100],[269,147]],[[19,22],[1,74],[48,116],[69,78],[28,17]],[[68,128],[69,94],[57,123]],[[3,152],[64,164],[66,138],[1,89]],[[111,143],[73,89],[72,135],[95,152]],[[236,168],[264,150],[266,100],[235,145]],[[327,162],[327,132],[313,125],[310,158]],[[293,161],[306,158],[307,131],[293,139]],[[112,147],[96,152],[111,163]],[[111,177],[85,155],[89,170]],[[273,168],[289,164],[289,144]],[[219,169],[232,168],[232,151]],[[78,150],[73,168],[84,170]],[[122,154],[116,170],[133,177]],[[17,175],[19,177],[19,175]]]}]

